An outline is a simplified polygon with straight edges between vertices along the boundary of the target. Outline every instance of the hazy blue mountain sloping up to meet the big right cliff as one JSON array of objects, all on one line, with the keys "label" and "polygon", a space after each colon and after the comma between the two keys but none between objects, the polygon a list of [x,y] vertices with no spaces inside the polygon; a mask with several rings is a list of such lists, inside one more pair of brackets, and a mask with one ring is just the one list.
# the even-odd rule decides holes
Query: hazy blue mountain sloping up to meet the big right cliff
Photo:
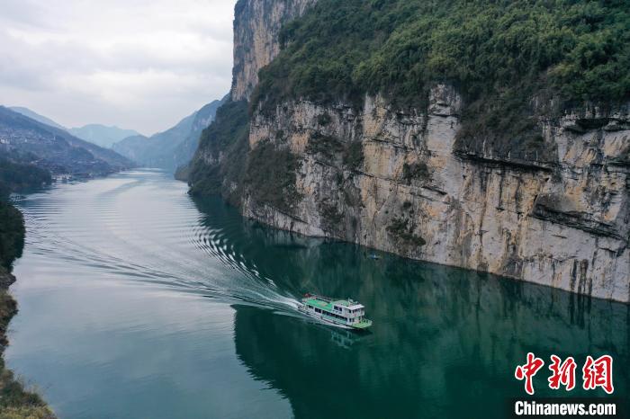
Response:
[{"label": "hazy blue mountain sloping up to meet the big right cliff", "polygon": [[148,138],[140,135],[124,138],[112,149],[139,165],[175,172],[177,167],[186,165],[193,157],[202,130],[211,124],[217,109],[226,99],[227,96],[206,104],[171,129]]}]

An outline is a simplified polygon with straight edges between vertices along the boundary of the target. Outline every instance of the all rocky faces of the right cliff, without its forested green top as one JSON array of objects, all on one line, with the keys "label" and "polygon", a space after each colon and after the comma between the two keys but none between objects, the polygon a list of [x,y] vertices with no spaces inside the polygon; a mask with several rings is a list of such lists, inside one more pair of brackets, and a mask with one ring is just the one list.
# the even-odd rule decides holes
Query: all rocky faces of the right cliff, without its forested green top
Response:
[{"label": "all rocky faces of the right cliff, without its forested green top", "polygon": [[466,137],[464,98],[444,83],[421,107],[297,95],[247,116],[280,26],[312,3],[238,2],[232,102],[202,136],[193,193],[310,236],[630,301],[628,105],[559,110],[553,95],[523,96],[536,129],[523,147]]}]

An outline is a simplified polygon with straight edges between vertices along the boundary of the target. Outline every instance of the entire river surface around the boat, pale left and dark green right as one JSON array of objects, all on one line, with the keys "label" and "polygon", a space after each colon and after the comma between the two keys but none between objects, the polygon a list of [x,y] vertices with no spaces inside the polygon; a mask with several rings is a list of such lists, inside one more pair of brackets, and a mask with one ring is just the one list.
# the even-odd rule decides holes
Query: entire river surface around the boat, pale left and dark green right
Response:
[{"label": "entire river surface around the boat, pale left and dark green right", "polygon": [[[63,417],[502,417],[524,394],[512,374],[527,352],[610,353],[628,394],[625,305],[373,260],[192,201],[158,172],[20,205],[29,235],[7,360]],[[307,291],[358,299],[372,332],[298,316]],[[536,389],[554,396],[546,377]]]}]

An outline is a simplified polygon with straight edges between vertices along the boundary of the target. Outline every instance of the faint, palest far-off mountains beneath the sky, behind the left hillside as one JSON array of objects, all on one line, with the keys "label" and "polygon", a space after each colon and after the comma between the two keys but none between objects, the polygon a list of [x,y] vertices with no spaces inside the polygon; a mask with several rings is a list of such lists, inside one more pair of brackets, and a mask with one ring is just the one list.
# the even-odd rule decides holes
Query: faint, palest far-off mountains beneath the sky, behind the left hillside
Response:
[{"label": "faint, palest far-off mountains beneath the sky, behind the left hillside", "polygon": [[89,141],[100,147],[110,148],[113,143],[120,141],[122,138],[139,135],[139,132],[134,129],[121,129],[101,124],[88,124],[83,127],[66,128],[54,120],[50,120],[49,118],[40,115],[35,111],[31,111],[28,108],[13,106],[9,109],[11,111],[22,113],[24,116],[31,118],[31,120],[37,120],[38,122],[46,124],[50,127],[67,130],[67,132],[76,138],[85,139],[85,141]]}]

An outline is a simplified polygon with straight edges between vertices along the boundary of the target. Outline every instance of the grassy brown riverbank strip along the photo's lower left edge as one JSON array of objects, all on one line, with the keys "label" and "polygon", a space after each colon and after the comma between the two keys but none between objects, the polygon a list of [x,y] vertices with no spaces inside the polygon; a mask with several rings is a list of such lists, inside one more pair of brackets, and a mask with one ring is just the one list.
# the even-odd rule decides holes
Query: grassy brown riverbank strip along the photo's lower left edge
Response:
[{"label": "grassy brown riverbank strip along the photo's lower left edge", "polygon": [[[3,262],[8,266],[13,263],[15,244],[19,245],[17,254],[22,254],[24,241],[22,214],[11,204],[0,202],[3,217],[0,218],[0,249],[3,250]],[[22,224],[22,228],[19,225]],[[17,226],[17,227],[16,227]],[[7,249],[10,249],[7,251]],[[10,254],[7,261],[4,258]],[[17,314],[17,302],[9,294],[9,287],[15,281],[5,266],[0,266],[0,419],[49,419],[54,418],[52,411],[34,392],[24,388],[20,379],[4,365],[4,349],[8,346],[7,329],[11,319]]]}]

